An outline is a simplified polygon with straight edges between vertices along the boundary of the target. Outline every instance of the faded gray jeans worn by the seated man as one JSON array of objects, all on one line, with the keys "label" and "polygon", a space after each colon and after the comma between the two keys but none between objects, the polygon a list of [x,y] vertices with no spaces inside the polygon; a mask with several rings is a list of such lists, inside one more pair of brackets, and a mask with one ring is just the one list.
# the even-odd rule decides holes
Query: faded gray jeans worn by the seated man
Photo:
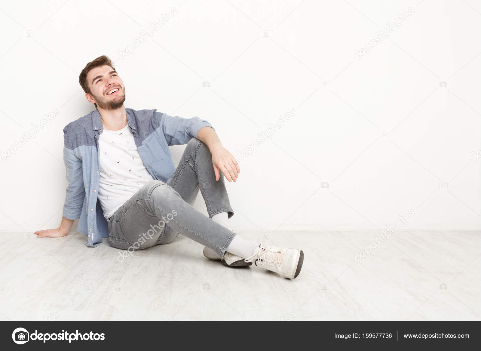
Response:
[{"label": "faded gray jeans worn by the seated man", "polygon": [[219,212],[234,215],[224,175],[215,181],[209,148],[192,138],[172,178],[145,183],[109,217],[110,245],[139,250],[168,244],[180,233],[223,257],[236,234],[192,207],[199,189],[210,218]]}]

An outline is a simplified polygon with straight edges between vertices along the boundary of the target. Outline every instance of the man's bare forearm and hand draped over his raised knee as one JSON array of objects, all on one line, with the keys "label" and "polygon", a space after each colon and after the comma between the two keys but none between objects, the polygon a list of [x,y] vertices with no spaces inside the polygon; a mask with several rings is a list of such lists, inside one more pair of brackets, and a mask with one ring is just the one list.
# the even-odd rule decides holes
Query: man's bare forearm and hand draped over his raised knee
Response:
[{"label": "man's bare forearm and hand draped over his raised knee", "polygon": [[207,145],[212,154],[212,165],[214,166],[215,180],[220,177],[219,169],[229,182],[236,182],[241,173],[239,164],[234,156],[219,140],[219,137],[211,127],[203,127],[197,132],[197,139]]}]

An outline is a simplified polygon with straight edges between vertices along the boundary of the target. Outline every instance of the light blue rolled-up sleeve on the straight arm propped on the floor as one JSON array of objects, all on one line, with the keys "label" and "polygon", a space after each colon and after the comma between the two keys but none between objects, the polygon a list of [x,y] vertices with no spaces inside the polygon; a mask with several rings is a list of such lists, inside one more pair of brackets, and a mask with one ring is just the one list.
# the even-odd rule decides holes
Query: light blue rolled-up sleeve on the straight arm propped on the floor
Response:
[{"label": "light blue rolled-up sleeve on the straight arm propped on the floor", "polygon": [[63,204],[63,217],[67,220],[80,218],[85,198],[82,160],[75,156],[73,150],[63,146],[63,163],[67,174],[65,202]]}]

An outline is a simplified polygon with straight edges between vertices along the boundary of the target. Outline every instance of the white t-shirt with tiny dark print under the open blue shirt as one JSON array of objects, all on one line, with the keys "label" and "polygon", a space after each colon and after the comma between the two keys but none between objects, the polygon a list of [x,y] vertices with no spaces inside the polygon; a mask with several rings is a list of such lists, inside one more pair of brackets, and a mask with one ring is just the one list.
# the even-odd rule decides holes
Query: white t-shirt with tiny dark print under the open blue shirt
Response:
[{"label": "white t-shirt with tiny dark print under the open blue shirt", "polygon": [[108,220],[142,185],[154,178],[140,158],[128,124],[121,130],[103,129],[99,137],[99,154],[97,196]]}]

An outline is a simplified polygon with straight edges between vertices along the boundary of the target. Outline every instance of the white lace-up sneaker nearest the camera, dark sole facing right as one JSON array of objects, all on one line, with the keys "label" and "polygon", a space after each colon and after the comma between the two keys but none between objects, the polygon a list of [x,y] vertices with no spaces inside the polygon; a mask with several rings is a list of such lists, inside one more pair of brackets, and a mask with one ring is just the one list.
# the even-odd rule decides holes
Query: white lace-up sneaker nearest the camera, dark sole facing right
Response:
[{"label": "white lace-up sneaker nearest the camera, dark sole facing right", "polygon": [[294,279],[301,272],[304,252],[295,248],[268,246],[265,241],[256,247],[254,254],[244,260],[258,267],[278,273],[286,278]]}]

